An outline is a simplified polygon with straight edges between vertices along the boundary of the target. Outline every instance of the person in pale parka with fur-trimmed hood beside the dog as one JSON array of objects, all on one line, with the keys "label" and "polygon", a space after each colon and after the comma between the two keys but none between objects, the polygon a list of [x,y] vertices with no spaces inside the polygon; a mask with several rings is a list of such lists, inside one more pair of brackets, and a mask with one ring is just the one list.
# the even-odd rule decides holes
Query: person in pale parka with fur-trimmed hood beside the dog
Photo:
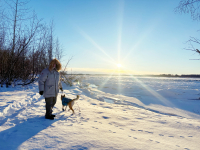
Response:
[{"label": "person in pale parka with fur-trimmed hood beside the dog", "polygon": [[57,59],[53,59],[39,77],[39,93],[44,96],[46,102],[46,119],[54,119],[55,115],[52,115],[52,109],[56,104],[59,89],[63,91],[59,73],[61,67],[61,63]]}]

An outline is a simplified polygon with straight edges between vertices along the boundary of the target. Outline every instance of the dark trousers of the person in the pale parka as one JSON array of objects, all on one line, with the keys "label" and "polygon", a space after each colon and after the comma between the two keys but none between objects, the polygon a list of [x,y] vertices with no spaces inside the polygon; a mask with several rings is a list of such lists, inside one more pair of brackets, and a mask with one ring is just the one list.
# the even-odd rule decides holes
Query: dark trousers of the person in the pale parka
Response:
[{"label": "dark trousers of the person in the pale parka", "polygon": [[46,102],[46,114],[45,116],[51,116],[52,115],[52,109],[54,107],[54,105],[56,104],[56,97],[48,97],[45,98],[45,102]]}]

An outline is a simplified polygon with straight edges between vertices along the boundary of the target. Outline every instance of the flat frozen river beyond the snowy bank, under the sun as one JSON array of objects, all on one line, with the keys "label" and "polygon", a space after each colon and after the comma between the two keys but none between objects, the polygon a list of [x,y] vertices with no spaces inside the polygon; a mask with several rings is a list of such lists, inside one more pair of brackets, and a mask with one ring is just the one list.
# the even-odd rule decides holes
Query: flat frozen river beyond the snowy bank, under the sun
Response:
[{"label": "flat frozen river beyond the snowy bank, under the sun", "polygon": [[[105,93],[134,97],[145,106],[154,106],[153,109],[165,106],[200,114],[200,78],[88,75],[83,84],[88,86],[96,98],[106,102],[113,101]],[[119,100],[122,99],[119,97]]]}]

